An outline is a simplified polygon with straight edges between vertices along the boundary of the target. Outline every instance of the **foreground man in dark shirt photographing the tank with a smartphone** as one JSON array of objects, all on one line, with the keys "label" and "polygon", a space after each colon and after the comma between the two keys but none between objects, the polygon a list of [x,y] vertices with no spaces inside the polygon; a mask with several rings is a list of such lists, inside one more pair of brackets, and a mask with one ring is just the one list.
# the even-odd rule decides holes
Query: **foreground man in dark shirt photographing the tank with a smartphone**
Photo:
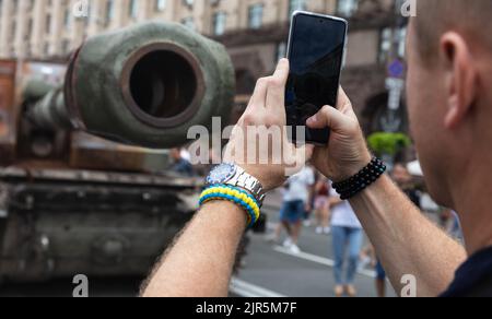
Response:
[{"label": "foreground man in dark shirt photographing the tank with a smartphone", "polygon": [[[423,216],[386,175],[351,193],[350,204],[397,294],[492,296],[492,1],[408,1],[413,2],[417,16],[410,19],[407,45],[410,128],[429,191],[438,204],[458,213],[466,247]],[[288,78],[289,61],[282,59],[272,76],[258,81],[236,130],[285,126]],[[253,162],[242,168],[269,191],[283,185],[293,158],[302,167],[311,157],[336,184],[373,163],[343,90],[336,107],[325,106],[306,125],[329,127],[329,143],[284,145],[293,157],[274,165],[268,150],[272,164]],[[256,140],[258,135],[233,134],[229,147],[244,150]],[[239,153],[229,152],[226,162],[242,165]],[[221,199],[208,202],[156,265],[143,295],[225,296],[245,228],[238,205]]]}]

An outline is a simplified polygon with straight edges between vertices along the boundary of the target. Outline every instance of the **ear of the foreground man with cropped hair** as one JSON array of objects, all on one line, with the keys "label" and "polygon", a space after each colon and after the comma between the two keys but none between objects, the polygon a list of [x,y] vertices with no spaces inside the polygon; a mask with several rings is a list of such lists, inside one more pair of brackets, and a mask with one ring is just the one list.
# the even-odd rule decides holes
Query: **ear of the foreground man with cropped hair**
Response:
[{"label": "ear of the foreground man with cropped hair", "polygon": [[444,125],[454,129],[473,105],[478,71],[470,47],[456,32],[447,32],[441,37],[440,55],[446,73],[447,110]]}]

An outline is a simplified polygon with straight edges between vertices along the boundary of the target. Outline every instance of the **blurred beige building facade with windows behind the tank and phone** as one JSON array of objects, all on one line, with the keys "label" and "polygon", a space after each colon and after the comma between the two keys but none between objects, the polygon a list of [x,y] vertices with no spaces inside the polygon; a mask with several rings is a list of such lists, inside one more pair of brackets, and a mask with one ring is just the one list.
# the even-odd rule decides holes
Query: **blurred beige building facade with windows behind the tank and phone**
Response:
[{"label": "blurred beige building facade with windows behind the tank and phone", "polygon": [[386,84],[388,66],[405,55],[406,19],[400,15],[401,2],[1,0],[0,58],[63,61],[84,38],[104,31],[148,20],[183,23],[226,46],[236,69],[236,113],[239,114],[256,79],[271,73],[278,59],[284,57],[293,11],[340,15],[350,21],[342,85],[363,120],[364,130],[366,133],[406,131],[403,107],[387,115]]}]

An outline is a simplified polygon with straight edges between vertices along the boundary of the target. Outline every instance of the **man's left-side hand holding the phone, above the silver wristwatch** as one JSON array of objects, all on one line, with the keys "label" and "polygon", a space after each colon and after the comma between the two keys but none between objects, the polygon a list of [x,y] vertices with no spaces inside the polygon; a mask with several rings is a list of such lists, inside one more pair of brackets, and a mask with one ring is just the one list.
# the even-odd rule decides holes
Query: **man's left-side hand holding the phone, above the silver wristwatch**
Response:
[{"label": "man's left-side hand holding the phone, above the silver wristwatch", "polygon": [[289,142],[284,104],[288,78],[289,60],[282,59],[272,76],[258,80],[224,155],[224,162],[243,167],[267,191],[285,182],[288,169],[301,170],[313,150]]}]

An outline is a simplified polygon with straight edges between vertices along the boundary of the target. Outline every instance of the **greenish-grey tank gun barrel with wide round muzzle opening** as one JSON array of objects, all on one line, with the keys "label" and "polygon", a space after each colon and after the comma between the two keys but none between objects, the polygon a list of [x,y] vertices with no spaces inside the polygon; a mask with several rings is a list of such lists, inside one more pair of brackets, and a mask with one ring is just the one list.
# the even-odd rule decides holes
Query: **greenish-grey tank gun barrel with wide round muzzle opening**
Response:
[{"label": "greenish-grey tank gun barrel with wide round muzzle opening", "polygon": [[[151,22],[87,39],[62,87],[34,103],[30,118],[40,128],[169,149],[187,142],[190,127],[227,118],[234,84],[222,45],[179,24]],[[38,96],[39,86],[24,96]]]}]

